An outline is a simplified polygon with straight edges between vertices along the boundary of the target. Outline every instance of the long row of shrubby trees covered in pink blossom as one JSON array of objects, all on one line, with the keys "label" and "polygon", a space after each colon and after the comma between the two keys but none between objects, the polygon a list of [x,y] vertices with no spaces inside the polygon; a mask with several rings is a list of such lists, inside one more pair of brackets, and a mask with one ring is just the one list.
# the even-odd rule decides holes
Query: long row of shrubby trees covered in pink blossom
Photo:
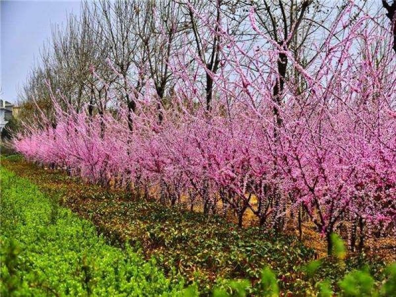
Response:
[{"label": "long row of shrubby trees covered in pink blossom", "polygon": [[[347,10],[331,32],[349,17]],[[198,91],[202,73],[186,62],[194,53],[180,53],[169,62],[175,95],[161,108],[161,122],[150,84],[131,95],[137,109],[129,117],[121,102],[90,117],[61,110],[54,97],[56,127],[41,119],[14,146],[29,160],[67,167],[92,183],[116,181],[147,195],[156,189],[163,202],[199,204],[206,213],[222,205],[240,224],[250,210],[261,224],[278,228],[302,209],[328,236],[357,217],[394,232],[396,59],[390,33],[370,21],[363,14],[341,40],[330,34],[304,67],[277,44],[252,47],[218,30],[224,66],[209,73],[210,111]],[[277,102],[280,52],[299,79],[289,74]]]}]

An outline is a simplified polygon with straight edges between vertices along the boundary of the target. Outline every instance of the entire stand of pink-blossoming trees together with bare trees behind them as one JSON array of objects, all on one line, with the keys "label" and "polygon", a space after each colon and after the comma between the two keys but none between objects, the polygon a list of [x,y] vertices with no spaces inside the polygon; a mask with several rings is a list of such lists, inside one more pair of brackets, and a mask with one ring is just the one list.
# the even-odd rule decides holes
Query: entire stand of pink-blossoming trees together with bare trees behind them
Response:
[{"label": "entire stand of pink-blossoming trees together with bare trees behind them", "polygon": [[240,226],[248,210],[276,231],[310,220],[329,251],[347,222],[362,248],[396,226],[396,59],[374,8],[85,4],[28,81],[37,120],[14,146],[90,182],[232,210]]}]

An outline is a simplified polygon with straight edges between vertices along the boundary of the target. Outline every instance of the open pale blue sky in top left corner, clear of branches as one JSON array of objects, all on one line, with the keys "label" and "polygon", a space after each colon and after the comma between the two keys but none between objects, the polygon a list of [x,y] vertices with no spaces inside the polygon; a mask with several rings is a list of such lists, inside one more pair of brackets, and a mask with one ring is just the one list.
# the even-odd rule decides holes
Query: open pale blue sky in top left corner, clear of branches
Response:
[{"label": "open pale blue sky in top left corner, clear of branches", "polygon": [[80,0],[0,0],[1,99],[16,102],[17,89],[50,37],[51,24],[65,23],[70,12],[78,14]]}]

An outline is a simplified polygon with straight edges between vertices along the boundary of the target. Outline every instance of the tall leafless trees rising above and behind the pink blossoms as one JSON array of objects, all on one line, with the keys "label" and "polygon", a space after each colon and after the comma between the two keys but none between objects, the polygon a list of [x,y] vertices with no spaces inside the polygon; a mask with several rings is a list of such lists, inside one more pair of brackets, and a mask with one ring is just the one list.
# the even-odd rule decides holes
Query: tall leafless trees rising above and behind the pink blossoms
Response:
[{"label": "tall leafless trees rising above and behind the pink blossoms", "polygon": [[[36,103],[48,116],[53,116],[48,85],[76,111],[89,104],[91,114],[113,106],[114,100],[134,111],[134,97],[143,92],[148,81],[164,105],[174,93],[176,83],[169,61],[181,51],[186,54],[190,70],[199,74],[200,90],[206,94],[205,101],[199,103],[209,110],[213,79],[206,69],[216,74],[226,66],[221,57],[224,41],[219,30],[226,30],[241,44],[252,46],[262,40],[249,25],[251,7],[266,38],[278,44],[287,40],[284,46],[306,67],[316,52],[311,45],[323,42],[325,27],[345,5],[328,7],[312,0],[86,2],[81,15],[70,15],[65,26],[53,27],[38,66],[20,92],[25,102],[24,116],[29,117],[32,110],[37,114]],[[219,26],[213,27],[217,23]],[[288,59],[281,56],[281,60],[280,71],[286,77]],[[290,67],[288,70],[293,72]],[[107,94],[108,89],[114,93]]]}]

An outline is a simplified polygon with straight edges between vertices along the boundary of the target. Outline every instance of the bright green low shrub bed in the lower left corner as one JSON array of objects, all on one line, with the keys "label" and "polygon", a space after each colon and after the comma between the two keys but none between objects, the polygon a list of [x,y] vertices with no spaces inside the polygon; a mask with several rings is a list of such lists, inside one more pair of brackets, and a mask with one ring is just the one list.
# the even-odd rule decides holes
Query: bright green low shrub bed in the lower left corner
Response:
[{"label": "bright green low shrub bed in the lower left corner", "polygon": [[168,280],[153,259],[106,245],[90,222],[0,173],[1,296],[182,296],[183,282]]}]

